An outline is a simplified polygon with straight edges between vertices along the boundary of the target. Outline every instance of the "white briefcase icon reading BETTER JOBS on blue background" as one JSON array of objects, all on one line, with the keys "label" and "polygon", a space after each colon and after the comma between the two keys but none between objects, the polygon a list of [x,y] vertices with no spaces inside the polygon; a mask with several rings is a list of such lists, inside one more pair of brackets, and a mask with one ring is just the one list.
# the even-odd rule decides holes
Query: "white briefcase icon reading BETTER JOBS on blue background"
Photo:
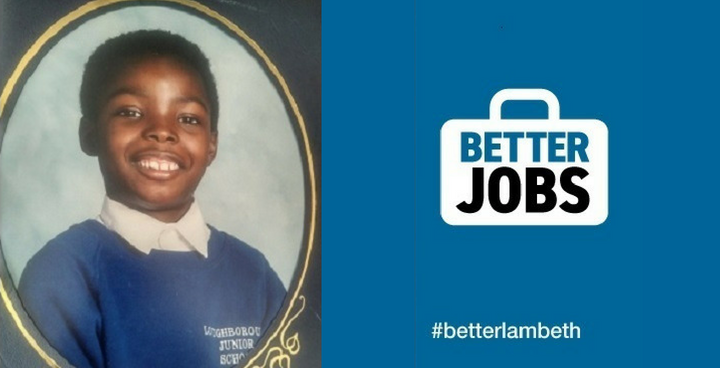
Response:
[{"label": "white briefcase icon reading BETTER JOBS on blue background", "polygon": [[[539,100],[548,119],[505,119],[509,100]],[[608,130],[560,119],[544,89],[504,89],[490,119],[448,120],[441,136],[441,214],[450,225],[599,225],[608,215]]]}]

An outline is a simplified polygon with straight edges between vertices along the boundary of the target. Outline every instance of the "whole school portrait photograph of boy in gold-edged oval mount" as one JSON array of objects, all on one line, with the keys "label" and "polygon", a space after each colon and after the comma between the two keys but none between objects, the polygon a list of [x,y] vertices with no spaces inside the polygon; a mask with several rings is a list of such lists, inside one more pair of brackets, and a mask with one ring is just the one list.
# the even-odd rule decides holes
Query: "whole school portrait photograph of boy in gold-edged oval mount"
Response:
[{"label": "whole school portrait photograph of boy in gold-edged oval mount", "polygon": [[78,2],[4,83],[0,321],[32,359],[319,364],[319,112],[213,3]]}]

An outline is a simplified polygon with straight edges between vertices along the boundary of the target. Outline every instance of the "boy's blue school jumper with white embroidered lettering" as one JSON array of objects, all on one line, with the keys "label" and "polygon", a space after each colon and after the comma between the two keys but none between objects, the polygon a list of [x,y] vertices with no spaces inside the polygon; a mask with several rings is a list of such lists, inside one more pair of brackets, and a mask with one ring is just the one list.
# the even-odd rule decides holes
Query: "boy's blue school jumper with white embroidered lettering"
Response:
[{"label": "boy's blue school jumper with white embroidered lettering", "polygon": [[235,366],[272,322],[285,288],[259,251],[210,231],[203,258],[146,255],[95,220],[74,225],[30,260],[22,303],[78,368]]}]

